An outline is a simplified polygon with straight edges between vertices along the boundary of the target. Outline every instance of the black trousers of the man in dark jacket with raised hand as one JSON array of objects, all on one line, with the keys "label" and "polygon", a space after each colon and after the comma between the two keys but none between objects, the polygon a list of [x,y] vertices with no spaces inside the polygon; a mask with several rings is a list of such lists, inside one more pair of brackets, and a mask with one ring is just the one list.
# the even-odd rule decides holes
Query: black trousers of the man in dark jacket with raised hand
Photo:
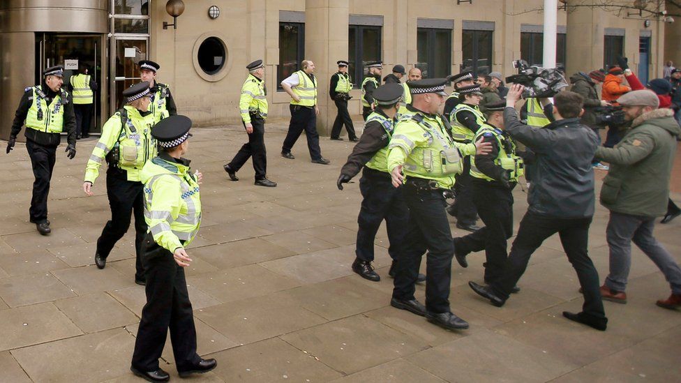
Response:
[{"label": "black trousers of the man in dark jacket with raised hand", "polygon": [[560,219],[527,211],[521,220],[518,236],[511,246],[511,254],[504,266],[503,276],[491,285],[493,290],[500,296],[508,298],[511,289],[527,269],[527,263],[530,262],[534,250],[541,246],[544,239],[558,233],[563,250],[577,272],[579,285],[583,290],[583,312],[594,318],[604,318],[598,272],[587,250],[591,220],[592,217]]}]

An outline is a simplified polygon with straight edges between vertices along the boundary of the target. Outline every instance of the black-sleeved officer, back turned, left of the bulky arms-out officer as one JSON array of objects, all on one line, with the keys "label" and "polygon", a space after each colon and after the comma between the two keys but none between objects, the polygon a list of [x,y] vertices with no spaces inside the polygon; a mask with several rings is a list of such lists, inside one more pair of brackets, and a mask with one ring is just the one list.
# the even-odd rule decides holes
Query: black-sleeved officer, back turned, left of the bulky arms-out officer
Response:
[{"label": "black-sleeved officer, back turned, left of the bulky arms-out officer", "polygon": [[[397,107],[402,100],[403,87],[401,84],[385,84],[373,92],[377,107],[366,120],[364,133],[359,143],[354,146],[347,157],[347,163],[340,169],[340,177],[336,183],[338,189],[343,190],[343,183],[350,182],[364,167],[359,179],[359,190],[362,200],[357,223],[357,257],[352,262],[352,271],[362,278],[381,280],[371,266],[373,262],[373,241],[378,227],[385,220],[390,247],[388,253],[393,264],[388,274],[395,274],[395,260],[398,251],[403,248],[403,239],[409,218],[409,209],[402,195],[402,188],[391,185],[390,173],[387,165],[388,143],[393,133],[394,118]],[[426,276],[419,275],[421,282]]]}]

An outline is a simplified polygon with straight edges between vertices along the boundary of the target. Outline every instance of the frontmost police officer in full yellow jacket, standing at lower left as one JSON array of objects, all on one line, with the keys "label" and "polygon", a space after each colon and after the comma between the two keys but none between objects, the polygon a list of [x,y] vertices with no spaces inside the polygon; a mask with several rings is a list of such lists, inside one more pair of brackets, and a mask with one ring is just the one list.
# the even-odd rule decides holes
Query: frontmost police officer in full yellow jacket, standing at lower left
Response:
[{"label": "frontmost police officer in full yellow jacket, standing at lower left", "polygon": [[185,116],[157,123],[151,135],[158,140],[160,153],[142,169],[144,216],[149,225],[142,248],[147,304],[142,309],[130,370],[151,382],[170,379],[158,366],[168,329],[180,377],[206,373],[217,366],[215,359],[202,359],[196,353],[196,328],[184,276],[184,267],[192,262],[185,248],[201,223],[201,173],[192,174],[190,160],[182,158],[189,147],[190,128],[191,120]]}]

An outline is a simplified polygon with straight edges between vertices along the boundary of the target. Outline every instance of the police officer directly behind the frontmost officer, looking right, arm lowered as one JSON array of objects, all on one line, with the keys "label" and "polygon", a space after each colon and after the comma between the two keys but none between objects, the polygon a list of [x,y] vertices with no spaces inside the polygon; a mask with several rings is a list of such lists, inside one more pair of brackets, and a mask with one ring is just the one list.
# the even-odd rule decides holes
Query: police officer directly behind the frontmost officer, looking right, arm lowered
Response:
[{"label": "police officer directly behind the frontmost officer, looking right, arm lowered", "polygon": [[135,283],[144,285],[142,241],[147,233],[144,222],[144,195],[140,172],[147,160],[156,156],[156,140],[151,126],[157,122],[149,110],[149,83],[140,82],[123,91],[126,105],[114,113],[102,127],[102,136],[92,150],[85,168],[83,191],[93,195],[92,187],[104,160],[108,163],[106,186],[111,219],[97,239],[95,264],[104,269],[116,242],[130,227],[130,215],[135,215]]}]

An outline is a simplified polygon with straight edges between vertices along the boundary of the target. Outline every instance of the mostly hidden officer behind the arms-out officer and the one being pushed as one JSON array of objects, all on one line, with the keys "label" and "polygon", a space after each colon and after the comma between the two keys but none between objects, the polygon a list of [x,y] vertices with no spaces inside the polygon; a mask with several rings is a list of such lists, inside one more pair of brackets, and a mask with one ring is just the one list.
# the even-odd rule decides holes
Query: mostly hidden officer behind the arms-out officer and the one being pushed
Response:
[{"label": "mostly hidden officer behind the arms-out officer and the one being pushed", "polygon": [[[460,103],[454,107],[449,116],[452,137],[457,142],[473,142],[475,133],[485,123],[485,116],[478,106],[483,94],[477,85],[461,87],[458,93]],[[447,208],[447,211],[452,216],[456,216],[456,227],[474,232],[480,227],[475,225],[477,210],[473,204],[470,181],[470,157],[466,156],[463,160],[463,173],[456,177],[454,186],[456,200]]]}]

